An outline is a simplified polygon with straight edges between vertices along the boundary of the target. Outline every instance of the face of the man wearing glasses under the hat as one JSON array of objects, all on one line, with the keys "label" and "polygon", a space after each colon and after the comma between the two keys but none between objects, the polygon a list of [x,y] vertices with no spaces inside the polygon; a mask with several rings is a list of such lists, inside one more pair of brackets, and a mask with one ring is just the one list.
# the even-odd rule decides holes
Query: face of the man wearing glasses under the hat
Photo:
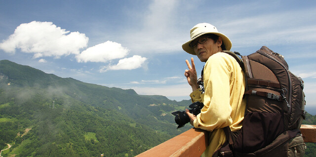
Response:
[{"label": "face of the man wearing glasses under the hat", "polygon": [[193,43],[197,44],[197,46],[194,47],[193,50],[197,54],[197,57],[201,62],[206,62],[209,57],[222,50],[220,48],[220,46],[222,45],[221,37],[219,37],[217,42],[215,43],[213,39],[206,36],[206,34],[201,35],[200,37],[192,41]]}]

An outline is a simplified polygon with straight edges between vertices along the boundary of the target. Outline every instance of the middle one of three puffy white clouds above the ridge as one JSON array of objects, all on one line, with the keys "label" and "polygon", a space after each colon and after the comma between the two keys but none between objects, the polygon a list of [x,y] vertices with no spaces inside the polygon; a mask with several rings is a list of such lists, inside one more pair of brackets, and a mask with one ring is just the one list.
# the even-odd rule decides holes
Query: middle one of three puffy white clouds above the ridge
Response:
[{"label": "middle one of three puffy white clouds above the ridge", "polygon": [[107,41],[87,48],[77,55],[78,62],[108,62],[113,59],[125,57],[129,49],[122,47],[121,44]]}]

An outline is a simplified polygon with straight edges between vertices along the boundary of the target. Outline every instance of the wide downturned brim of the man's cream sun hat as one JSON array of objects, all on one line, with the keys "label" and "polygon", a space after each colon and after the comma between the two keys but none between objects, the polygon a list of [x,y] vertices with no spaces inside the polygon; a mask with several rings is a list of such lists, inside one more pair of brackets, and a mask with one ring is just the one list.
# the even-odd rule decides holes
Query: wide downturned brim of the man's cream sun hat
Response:
[{"label": "wide downturned brim of the man's cream sun hat", "polygon": [[189,41],[187,41],[186,43],[184,43],[184,44],[182,45],[182,49],[183,49],[184,51],[186,51],[187,53],[189,53],[189,54],[197,55],[197,54],[194,52],[194,49],[191,48],[189,45],[190,45],[190,43],[191,43],[193,40],[195,40],[196,38],[198,38],[199,36],[201,36],[201,35],[203,35],[203,34],[216,34],[216,35],[222,37],[223,43],[225,44],[226,50],[228,50],[228,51],[231,50],[231,48],[232,48],[232,41],[231,41],[226,35],[224,35],[224,34],[222,34],[222,33],[220,33],[220,32],[202,32],[202,33],[198,34],[197,36],[195,36],[194,38],[192,38],[191,40],[189,40]]}]

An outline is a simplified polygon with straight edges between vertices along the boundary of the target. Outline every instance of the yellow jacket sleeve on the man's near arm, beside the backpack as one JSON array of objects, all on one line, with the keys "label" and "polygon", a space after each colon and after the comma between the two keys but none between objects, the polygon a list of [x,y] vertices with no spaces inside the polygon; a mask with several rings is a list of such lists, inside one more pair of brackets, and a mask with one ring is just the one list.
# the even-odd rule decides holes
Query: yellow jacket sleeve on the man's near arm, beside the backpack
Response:
[{"label": "yellow jacket sleeve on the man's near arm, beside the backpack", "polygon": [[230,78],[232,65],[217,53],[212,55],[204,66],[204,89],[201,95],[204,107],[194,121],[196,128],[208,131],[230,126],[232,107],[230,105]]}]

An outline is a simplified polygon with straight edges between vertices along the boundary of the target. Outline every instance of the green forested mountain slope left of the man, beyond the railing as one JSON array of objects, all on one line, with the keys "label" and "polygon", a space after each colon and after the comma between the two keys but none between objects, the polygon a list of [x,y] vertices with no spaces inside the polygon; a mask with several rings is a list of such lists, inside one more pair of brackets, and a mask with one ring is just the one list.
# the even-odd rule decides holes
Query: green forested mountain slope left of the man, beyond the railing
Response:
[{"label": "green forested mountain slope left of the man, beyond the railing", "polygon": [[109,88],[0,61],[3,157],[132,157],[188,130],[171,112],[190,100]]}]

